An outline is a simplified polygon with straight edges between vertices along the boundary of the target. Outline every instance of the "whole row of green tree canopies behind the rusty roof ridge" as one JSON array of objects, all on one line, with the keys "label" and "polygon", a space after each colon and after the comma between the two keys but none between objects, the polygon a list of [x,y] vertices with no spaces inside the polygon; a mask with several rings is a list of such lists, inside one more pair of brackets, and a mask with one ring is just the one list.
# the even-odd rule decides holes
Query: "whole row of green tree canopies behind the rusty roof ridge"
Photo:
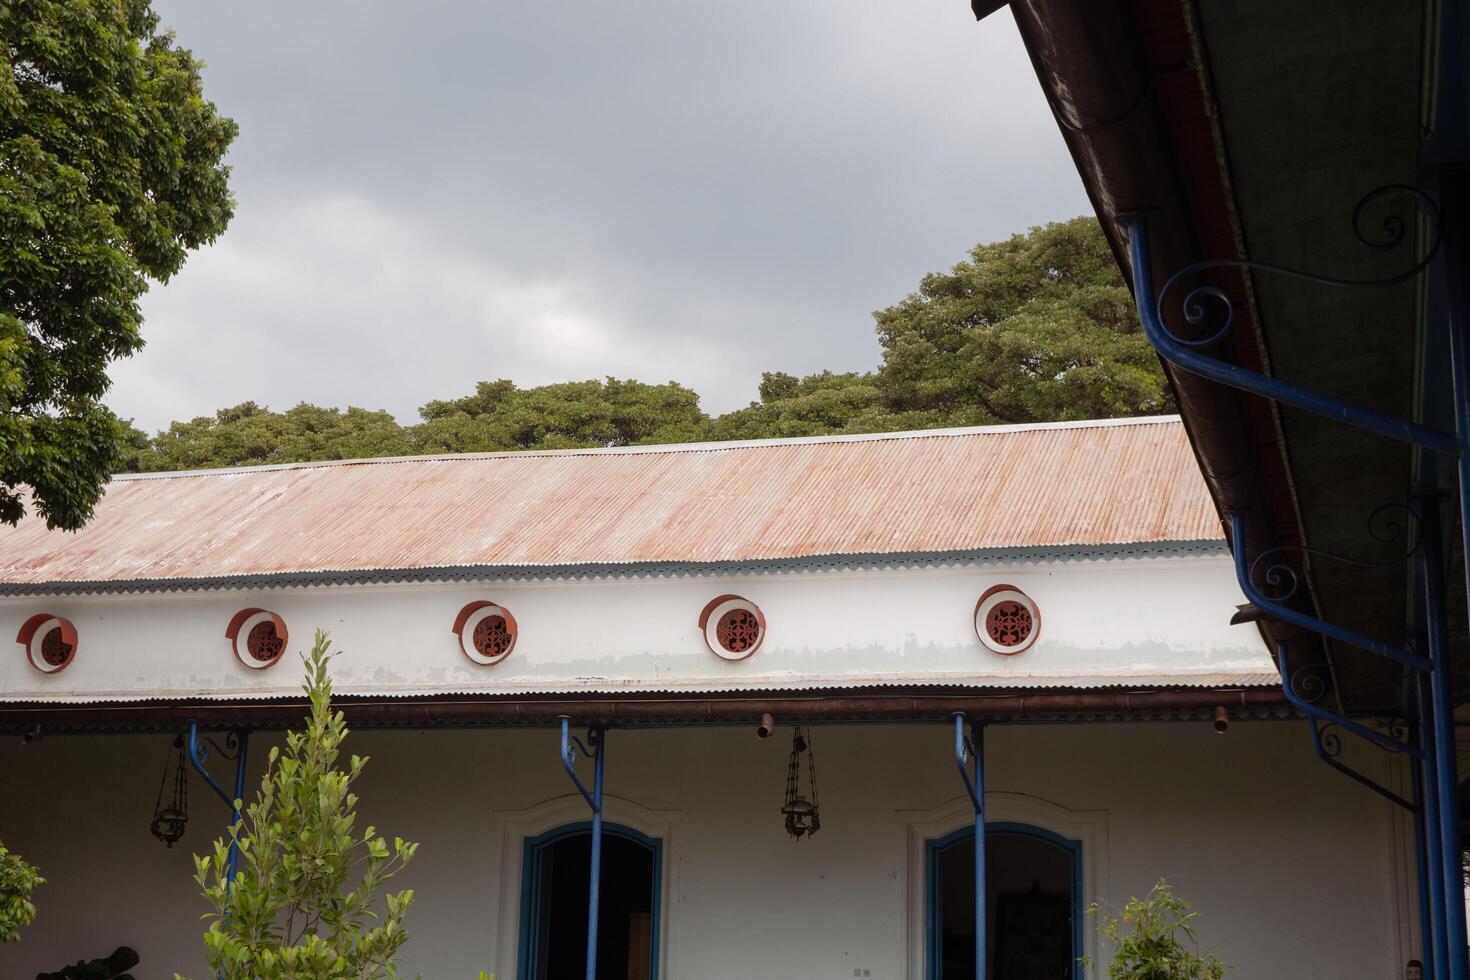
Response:
[{"label": "whole row of green tree canopies behind the rusty roof ridge", "polygon": [[423,453],[554,450],[892,432],[1157,414],[1173,407],[1133,301],[1092,217],[976,245],[873,314],[876,370],[766,372],[760,398],[710,417],[676,382],[481,382],[415,425],[385,411],[254,403],[129,429],[126,469],[172,470]]}]

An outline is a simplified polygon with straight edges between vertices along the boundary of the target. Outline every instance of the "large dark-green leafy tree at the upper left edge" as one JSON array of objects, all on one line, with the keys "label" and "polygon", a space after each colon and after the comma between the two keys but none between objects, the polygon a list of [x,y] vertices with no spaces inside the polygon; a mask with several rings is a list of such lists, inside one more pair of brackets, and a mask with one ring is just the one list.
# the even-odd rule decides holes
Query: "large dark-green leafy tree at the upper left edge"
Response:
[{"label": "large dark-green leafy tree at the upper left edge", "polygon": [[0,3],[0,520],[22,488],[53,527],[91,514],[118,458],[107,364],[138,298],[213,241],[235,123],[148,0]]}]

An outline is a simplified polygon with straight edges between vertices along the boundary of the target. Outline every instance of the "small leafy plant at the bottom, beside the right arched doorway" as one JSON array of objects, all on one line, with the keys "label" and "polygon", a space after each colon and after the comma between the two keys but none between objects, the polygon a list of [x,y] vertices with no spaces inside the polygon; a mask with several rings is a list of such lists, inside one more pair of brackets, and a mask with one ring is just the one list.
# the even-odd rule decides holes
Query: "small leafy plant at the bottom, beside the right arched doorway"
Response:
[{"label": "small leafy plant at the bottom, beside the right arched doorway", "polygon": [[[1108,961],[1110,980],[1220,980],[1225,964],[1198,951],[1194,921],[1200,912],[1160,879],[1147,898],[1132,898],[1120,915],[1104,915],[1097,905],[1088,915],[1116,952]],[[1085,965],[1091,965],[1083,958]]]}]

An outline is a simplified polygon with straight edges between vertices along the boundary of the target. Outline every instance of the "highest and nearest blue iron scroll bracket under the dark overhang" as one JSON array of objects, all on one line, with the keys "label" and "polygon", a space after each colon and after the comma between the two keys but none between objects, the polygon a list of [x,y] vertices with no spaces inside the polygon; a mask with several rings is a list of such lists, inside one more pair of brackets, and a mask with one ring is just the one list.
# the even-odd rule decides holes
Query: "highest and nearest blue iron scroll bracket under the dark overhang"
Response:
[{"label": "highest and nearest blue iron scroll bracket under the dark overhang", "polygon": [[[1379,188],[1366,195],[1358,201],[1357,209],[1354,209],[1354,229],[1358,228],[1358,220],[1364,209],[1376,200],[1388,195],[1389,192],[1411,194],[1420,203],[1420,206],[1433,219],[1433,226],[1436,229],[1436,238],[1433,245],[1429,248],[1427,256],[1416,263],[1408,270],[1391,276],[1388,279],[1335,279],[1330,276],[1317,276],[1294,269],[1286,269],[1285,266],[1274,266],[1263,262],[1248,262],[1244,259],[1214,259],[1207,262],[1197,262],[1191,266],[1185,266],[1175,275],[1172,275],[1166,282],[1164,288],[1157,294],[1154,292],[1154,273],[1152,273],[1152,256],[1148,247],[1148,216],[1141,212],[1130,212],[1120,215],[1117,222],[1123,232],[1127,235],[1127,256],[1132,264],[1133,273],[1133,294],[1138,303],[1138,314],[1144,325],[1144,336],[1154,347],[1158,354],[1172,364],[1177,364],[1191,375],[1200,375],[1201,378],[1208,378],[1210,381],[1220,382],[1230,388],[1239,391],[1247,391],[1252,395],[1260,395],[1261,398],[1269,398],[1285,406],[1292,406],[1304,411],[1311,411],[1327,419],[1336,419],[1347,425],[1357,426],[1360,429],[1367,429],[1369,432],[1377,432],[1379,435],[1388,436],[1391,439],[1398,439],[1399,442],[1408,442],[1411,445],[1421,445],[1427,450],[1445,454],[1457,454],[1460,451],[1460,439],[1451,432],[1442,432],[1430,426],[1419,425],[1417,422],[1410,422],[1407,419],[1395,419],[1394,416],[1386,416],[1351,403],[1342,401],[1339,398],[1330,398],[1327,395],[1320,395],[1314,391],[1307,391],[1297,385],[1279,381],[1276,378],[1269,378],[1260,372],[1223,361],[1217,357],[1211,357],[1204,353],[1217,344],[1233,326],[1235,323],[1235,307],[1223,289],[1211,285],[1197,287],[1189,294],[1185,295],[1183,310],[1185,319],[1189,323],[1204,323],[1207,319],[1205,304],[1216,303],[1225,310],[1225,319],[1219,329],[1216,329],[1208,336],[1201,339],[1183,339],[1164,325],[1163,306],[1164,297],[1169,291],[1180,281],[1188,276],[1198,275],[1201,272],[1208,272],[1211,269],[1236,269],[1236,270],[1251,270],[1251,272],[1266,272],[1292,276],[1297,279],[1304,279],[1307,282],[1316,282],[1327,287],[1388,287],[1399,282],[1407,282],[1408,279],[1417,276],[1423,272],[1433,256],[1438,251],[1438,210],[1433,203],[1429,201],[1421,191],[1402,187],[1391,185]],[[1388,219],[1385,228],[1389,232],[1389,238],[1385,241],[1369,241],[1361,234],[1358,238],[1364,241],[1372,248],[1386,250],[1398,245],[1404,238],[1404,222],[1402,219]]]}]

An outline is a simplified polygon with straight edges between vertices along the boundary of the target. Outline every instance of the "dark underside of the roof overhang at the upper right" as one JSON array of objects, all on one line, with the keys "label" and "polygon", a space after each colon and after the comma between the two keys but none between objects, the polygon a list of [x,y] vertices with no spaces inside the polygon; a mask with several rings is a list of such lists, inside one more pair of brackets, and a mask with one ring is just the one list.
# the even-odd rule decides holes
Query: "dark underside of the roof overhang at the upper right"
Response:
[{"label": "dark underside of the roof overhang at the upper right", "polygon": [[[1413,263],[1361,248],[1354,206],[1373,188],[1419,184],[1432,50],[1421,10],[1354,3],[1351,16],[1323,18],[1292,0],[1226,6],[1010,4],[1120,267],[1130,273],[1119,226],[1129,213],[1150,219],[1155,284],[1201,259],[1358,279]],[[1255,275],[1216,285],[1235,309],[1220,359],[1398,417],[1420,411],[1421,284],[1332,291]],[[1242,519],[1247,554],[1301,558],[1310,547],[1364,560],[1301,558],[1297,601],[1370,636],[1411,636],[1402,542],[1377,541],[1369,522],[1408,501],[1413,454],[1166,367],[1217,507]],[[1301,651],[1294,661],[1329,667],[1349,708],[1398,704],[1395,664],[1270,619],[1260,627],[1273,649],[1286,642]]]}]

